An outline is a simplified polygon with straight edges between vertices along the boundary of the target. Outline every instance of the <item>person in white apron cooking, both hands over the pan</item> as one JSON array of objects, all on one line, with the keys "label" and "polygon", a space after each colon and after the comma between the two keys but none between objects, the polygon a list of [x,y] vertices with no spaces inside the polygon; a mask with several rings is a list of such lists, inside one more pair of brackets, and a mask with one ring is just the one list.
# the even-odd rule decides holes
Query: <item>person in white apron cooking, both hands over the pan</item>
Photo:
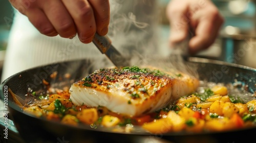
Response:
[{"label": "person in white apron cooking, both hands over the pan", "polygon": [[[157,1],[122,0],[15,0],[2,81],[39,65],[95,57],[94,34],[108,34],[122,53],[157,53]],[[172,0],[166,7],[170,23],[169,45],[186,38],[189,52],[207,49],[224,21],[209,0]],[[135,36],[136,35],[136,36]],[[150,50],[151,49],[151,50]],[[144,53],[143,53],[144,52]],[[143,53],[143,54],[142,54]]]}]

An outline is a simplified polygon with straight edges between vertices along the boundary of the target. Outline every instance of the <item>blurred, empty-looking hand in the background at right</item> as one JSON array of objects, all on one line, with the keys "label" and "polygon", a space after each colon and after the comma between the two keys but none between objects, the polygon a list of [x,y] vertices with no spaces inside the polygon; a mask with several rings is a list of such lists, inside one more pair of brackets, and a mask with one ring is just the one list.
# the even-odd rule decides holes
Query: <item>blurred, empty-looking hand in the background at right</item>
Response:
[{"label": "blurred, empty-looking hand in the background at right", "polygon": [[172,0],[166,9],[170,21],[170,45],[184,40],[189,31],[189,53],[207,49],[214,43],[224,22],[218,8],[209,0]]}]

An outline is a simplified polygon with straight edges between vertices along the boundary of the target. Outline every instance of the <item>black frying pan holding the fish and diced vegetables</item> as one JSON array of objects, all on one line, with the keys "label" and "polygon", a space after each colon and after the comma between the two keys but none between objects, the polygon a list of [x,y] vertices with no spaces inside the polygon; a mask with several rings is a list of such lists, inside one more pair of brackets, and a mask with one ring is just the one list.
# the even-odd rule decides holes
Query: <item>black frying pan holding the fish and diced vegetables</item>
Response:
[{"label": "black frying pan holding the fish and diced vegetables", "polygon": [[[73,82],[98,69],[99,66],[95,61],[94,59],[84,59],[58,62],[17,73],[1,84],[1,100],[4,100],[6,87],[21,99],[25,99],[28,89],[46,91],[47,87],[41,82],[42,79],[48,81],[51,87],[69,87]],[[157,62],[160,63],[160,61]],[[195,57],[190,57],[186,64],[197,67],[196,71],[200,80],[224,84],[241,82],[242,85],[247,85],[246,89],[250,93],[255,91],[256,69],[254,68]],[[108,64],[103,65],[109,66]],[[55,71],[57,71],[57,77],[51,78],[50,75]],[[73,74],[69,78],[63,78],[67,73]],[[100,127],[96,129],[90,126],[73,127],[24,113],[14,103],[9,91],[8,109],[10,111],[8,117],[14,122],[19,135],[25,142],[141,142],[141,138],[148,139],[144,142],[154,142],[152,139],[161,139],[167,142],[245,142],[256,133],[256,127],[225,132],[166,134],[118,133]]]}]

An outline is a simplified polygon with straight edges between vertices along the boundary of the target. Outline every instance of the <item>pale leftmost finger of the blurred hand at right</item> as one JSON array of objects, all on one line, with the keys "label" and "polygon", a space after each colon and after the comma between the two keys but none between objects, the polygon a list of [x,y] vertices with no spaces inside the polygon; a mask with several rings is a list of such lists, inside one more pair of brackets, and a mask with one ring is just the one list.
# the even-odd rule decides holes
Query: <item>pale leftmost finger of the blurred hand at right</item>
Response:
[{"label": "pale leftmost finger of the blurred hand at right", "polygon": [[170,2],[167,7],[166,15],[170,22],[170,45],[184,40],[188,34],[188,8],[189,5],[185,1]]}]

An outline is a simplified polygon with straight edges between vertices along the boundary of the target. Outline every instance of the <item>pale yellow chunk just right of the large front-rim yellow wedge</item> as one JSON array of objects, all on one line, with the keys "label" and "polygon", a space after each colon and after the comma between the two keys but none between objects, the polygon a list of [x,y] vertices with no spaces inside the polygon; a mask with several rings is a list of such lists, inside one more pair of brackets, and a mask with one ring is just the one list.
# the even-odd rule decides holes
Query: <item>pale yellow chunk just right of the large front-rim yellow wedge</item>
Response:
[{"label": "pale yellow chunk just right of the large front-rim yellow wedge", "polygon": [[174,111],[169,111],[166,118],[172,123],[173,131],[179,132],[185,128],[185,118],[176,114]]}]

